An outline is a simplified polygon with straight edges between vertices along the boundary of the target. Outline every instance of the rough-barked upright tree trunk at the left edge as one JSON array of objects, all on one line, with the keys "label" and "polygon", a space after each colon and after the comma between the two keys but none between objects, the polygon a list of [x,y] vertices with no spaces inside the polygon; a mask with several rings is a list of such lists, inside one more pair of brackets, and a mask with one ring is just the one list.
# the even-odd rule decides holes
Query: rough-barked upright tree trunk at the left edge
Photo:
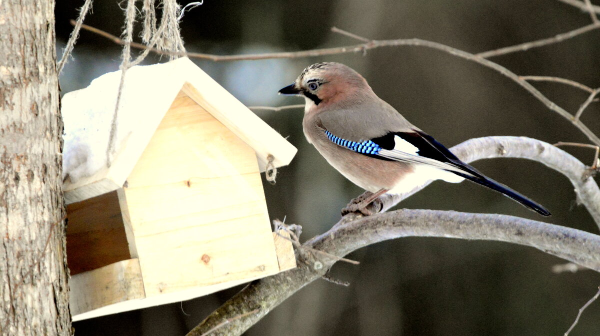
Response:
[{"label": "rough-barked upright tree trunk at the left edge", "polygon": [[54,1],[0,1],[0,334],[70,335]]}]

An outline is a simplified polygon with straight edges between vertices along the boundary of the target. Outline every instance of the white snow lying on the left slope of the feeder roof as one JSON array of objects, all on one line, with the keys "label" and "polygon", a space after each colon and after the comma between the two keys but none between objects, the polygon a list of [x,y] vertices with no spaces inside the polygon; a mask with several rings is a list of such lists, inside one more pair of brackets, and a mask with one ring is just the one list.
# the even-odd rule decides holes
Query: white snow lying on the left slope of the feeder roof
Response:
[{"label": "white snow lying on the left slope of the feeder roof", "polygon": [[[116,118],[115,153],[136,129],[157,128],[181,90],[181,77],[173,70],[172,63],[128,69]],[[120,81],[121,71],[109,72],[85,89],[69,92],[62,98],[65,127],[62,174],[63,178],[68,174],[71,184],[107,167],[106,152]]]}]

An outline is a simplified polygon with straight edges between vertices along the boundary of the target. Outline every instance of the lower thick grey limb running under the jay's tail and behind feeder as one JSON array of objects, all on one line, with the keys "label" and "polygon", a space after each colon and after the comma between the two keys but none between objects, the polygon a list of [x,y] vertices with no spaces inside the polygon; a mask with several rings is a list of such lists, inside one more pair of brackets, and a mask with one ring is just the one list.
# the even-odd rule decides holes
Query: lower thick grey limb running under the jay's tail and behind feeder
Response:
[{"label": "lower thick grey limb running under the jay's tail and behind feeder", "polygon": [[[496,240],[532,246],[551,255],[600,271],[600,237],[576,229],[499,214],[455,211],[398,210],[336,226],[305,243],[338,256],[379,241],[400,237],[446,237]],[[337,261],[315,258],[299,267],[254,281],[229,299],[188,336],[202,335],[212,326],[247,311],[259,312],[231,323],[213,335],[241,335],[269,311],[311,281],[322,277]]]}]

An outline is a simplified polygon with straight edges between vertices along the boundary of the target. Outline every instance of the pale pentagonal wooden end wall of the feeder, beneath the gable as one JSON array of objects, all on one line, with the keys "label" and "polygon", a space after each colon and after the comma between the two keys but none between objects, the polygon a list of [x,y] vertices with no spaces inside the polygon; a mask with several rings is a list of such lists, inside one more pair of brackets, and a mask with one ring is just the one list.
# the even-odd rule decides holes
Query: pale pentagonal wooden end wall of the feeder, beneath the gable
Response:
[{"label": "pale pentagonal wooden end wall of the feeder, beneath the gable", "polygon": [[123,194],[148,297],[279,271],[256,153],[187,95]]}]

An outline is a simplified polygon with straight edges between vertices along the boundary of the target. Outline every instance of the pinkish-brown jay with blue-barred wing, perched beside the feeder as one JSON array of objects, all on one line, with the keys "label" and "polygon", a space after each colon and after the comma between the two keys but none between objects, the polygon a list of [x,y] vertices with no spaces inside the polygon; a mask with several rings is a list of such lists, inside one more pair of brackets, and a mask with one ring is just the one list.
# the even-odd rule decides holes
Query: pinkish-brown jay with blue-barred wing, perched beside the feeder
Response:
[{"label": "pinkish-brown jay with blue-barred wing, perched beside the feeder", "polygon": [[310,65],[278,93],[305,98],[302,129],[308,142],[344,177],[370,192],[356,199],[353,211],[368,215],[367,205],[379,196],[409,192],[429,180],[469,180],[550,216],[542,205],[485,176],[412,125],[347,65]]}]

